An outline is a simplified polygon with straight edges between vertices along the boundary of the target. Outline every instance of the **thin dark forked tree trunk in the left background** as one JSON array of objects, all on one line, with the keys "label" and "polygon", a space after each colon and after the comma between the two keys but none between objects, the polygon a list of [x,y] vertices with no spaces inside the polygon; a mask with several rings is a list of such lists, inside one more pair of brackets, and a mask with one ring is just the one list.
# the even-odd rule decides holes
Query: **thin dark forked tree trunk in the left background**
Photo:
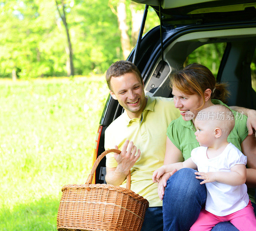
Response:
[{"label": "thin dark forked tree trunk in the left background", "polygon": [[64,24],[65,29],[66,29],[66,34],[67,34],[67,39],[68,39],[68,55],[69,55],[69,57],[67,59],[67,63],[69,62],[69,65],[66,65],[67,75],[74,76],[73,50],[72,50],[72,44],[71,44],[71,40],[70,40],[70,36],[69,36],[68,24],[67,24],[67,20],[66,20],[65,5],[64,5],[63,0],[61,0],[61,5],[62,5],[62,14],[61,14],[57,0],[55,0],[55,2],[57,5],[57,10],[59,12],[60,18]]}]

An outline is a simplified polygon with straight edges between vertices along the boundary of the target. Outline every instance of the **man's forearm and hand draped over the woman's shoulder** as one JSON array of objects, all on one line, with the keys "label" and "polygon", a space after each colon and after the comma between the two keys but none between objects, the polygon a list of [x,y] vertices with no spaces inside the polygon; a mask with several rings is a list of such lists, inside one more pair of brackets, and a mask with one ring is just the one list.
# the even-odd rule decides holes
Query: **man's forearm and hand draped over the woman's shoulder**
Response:
[{"label": "man's forearm and hand draped over the woman's shoulder", "polygon": [[237,107],[237,106],[232,106],[230,108],[239,113],[244,113],[244,115],[246,115],[248,117],[246,126],[248,128],[248,135],[251,136],[253,133],[253,128],[254,128],[254,130],[256,130],[256,110]]}]

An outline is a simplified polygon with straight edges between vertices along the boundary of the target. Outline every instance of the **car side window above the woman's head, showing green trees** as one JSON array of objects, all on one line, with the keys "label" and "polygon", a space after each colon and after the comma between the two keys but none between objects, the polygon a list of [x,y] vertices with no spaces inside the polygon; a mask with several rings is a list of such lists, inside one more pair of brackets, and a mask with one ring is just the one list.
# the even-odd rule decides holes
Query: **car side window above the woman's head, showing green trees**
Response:
[{"label": "car side window above the woman's head, showing green trees", "polygon": [[200,63],[208,67],[216,78],[225,47],[226,43],[204,44],[188,55],[184,67],[194,62]]}]

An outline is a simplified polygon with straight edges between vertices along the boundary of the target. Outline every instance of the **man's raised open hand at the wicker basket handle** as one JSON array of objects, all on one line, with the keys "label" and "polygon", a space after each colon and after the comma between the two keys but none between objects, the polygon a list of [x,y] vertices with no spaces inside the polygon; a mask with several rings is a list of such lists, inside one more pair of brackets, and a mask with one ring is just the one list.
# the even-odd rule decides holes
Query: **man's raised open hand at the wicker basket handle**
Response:
[{"label": "man's raised open hand at the wicker basket handle", "polygon": [[[133,142],[130,142],[130,145],[128,147],[129,140],[127,139],[124,142],[124,146],[122,148],[122,151],[120,154],[114,153],[114,158],[117,162],[116,172],[122,172],[125,175],[128,175],[130,169],[135,164],[135,162],[140,157],[140,149],[138,149],[138,153],[136,154],[137,147],[133,145]],[[127,149],[128,147],[128,149]],[[115,146],[116,149],[118,149],[117,146]]]}]

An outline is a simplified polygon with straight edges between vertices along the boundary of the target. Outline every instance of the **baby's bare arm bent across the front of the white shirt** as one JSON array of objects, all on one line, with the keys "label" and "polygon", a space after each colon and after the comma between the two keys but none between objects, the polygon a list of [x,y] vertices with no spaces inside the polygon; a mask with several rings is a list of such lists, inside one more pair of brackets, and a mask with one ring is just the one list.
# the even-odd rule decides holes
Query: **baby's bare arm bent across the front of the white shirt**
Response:
[{"label": "baby's bare arm bent across the front of the white shirt", "polygon": [[246,167],[244,164],[237,164],[230,168],[230,172],[195,172],[196,179],[203,179],[200,184],[219,181],[223,184],[237,186],[245,183]]}]

